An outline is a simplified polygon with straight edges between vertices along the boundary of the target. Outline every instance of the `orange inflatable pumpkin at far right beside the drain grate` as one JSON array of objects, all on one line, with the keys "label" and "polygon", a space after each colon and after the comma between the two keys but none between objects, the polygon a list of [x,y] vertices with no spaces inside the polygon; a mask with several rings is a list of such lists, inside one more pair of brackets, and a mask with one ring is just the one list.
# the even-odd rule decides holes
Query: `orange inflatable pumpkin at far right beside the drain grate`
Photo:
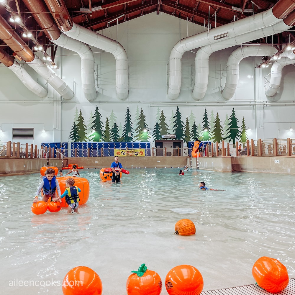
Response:
[{"label": "orange inflatable pumpkin at far right beside the drain grate", "polygon": [[257,285],[270,293],[278,293],[289,283],[286,266],[275,258],[260,257],[253,265],[252,275]]}]

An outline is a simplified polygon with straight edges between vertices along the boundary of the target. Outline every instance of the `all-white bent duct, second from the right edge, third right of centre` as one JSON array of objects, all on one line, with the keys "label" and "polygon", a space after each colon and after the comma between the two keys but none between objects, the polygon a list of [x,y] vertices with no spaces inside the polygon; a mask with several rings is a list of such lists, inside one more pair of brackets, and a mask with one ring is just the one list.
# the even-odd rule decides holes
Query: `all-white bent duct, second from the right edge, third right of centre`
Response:
[{"label": "all-white bent duct, second from the right edge, third right of centre", "polygon": [[229,56],[226,67],[226,82],[222,90],[222,97],[230,99],[234,96],[239,82],[240,61],[249,56],[271,56],[277,49],[269,44],[245,45],[238,47]]}]

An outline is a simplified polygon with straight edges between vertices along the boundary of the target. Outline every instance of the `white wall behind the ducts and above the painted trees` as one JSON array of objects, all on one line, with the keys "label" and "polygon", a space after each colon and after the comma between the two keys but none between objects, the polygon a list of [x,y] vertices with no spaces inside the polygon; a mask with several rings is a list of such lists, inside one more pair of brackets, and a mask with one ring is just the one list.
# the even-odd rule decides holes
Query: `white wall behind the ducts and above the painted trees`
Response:
[{"label": "white wall behind the ducts and above the painted trees", "polygon": [[[181,29],[181,34],[179,30]],[[117,31],[118,30],[118,31]],[[87,127],[91,127],[91,115],[96,105],[105,122],[111,112],[117,117],[117,124],[124,126],[127,106],[129,106],[133,128],[136,128],[137,110],[142,108],[147,118],[150,133],[157,119],[157,112],[163,109],[166,122],[170,125],[178,106],[185,123],[186,116],[195,117],[197,125],[202,125],[204,108],[210,116],[219,114],[224,122],[230,117],[234,107],[239,124],[244,116],[247,128],[251,129],[249,139],[270,139],[273,137],[295,138],[295,85],[293,65],[283,69],[281,88],[273,98],[264,94],[264,83],[269,79],[270,68],[257,69],[261,58],[245,58],[240,63],[240,79],[237,91],[232,99],[226,101],[221,96],[226,78],[226,63],[231,47],[217,51],[209,59],[209,84],[203,99],[195,101],[191,96],[194,84],[194,52],[186,52],[182,59],[182,83],[178,99],[172,101],[167,96],[168,60],[173,45],[180,39],[202,32],[200,26],[187,23],[167,14],[148,14],[130,20],[118,27],[114,26],[99,33],[117,40],[125,48],[129,60],[129,96],[125,101],[116,97],[115,59],[110,53],[93,48],[96,61],[96,83],[98,96],[93,102],[85,99],[81,89],[81,61],[79,56],[67,49],[57,52],[55,62],[57,73],[73,89],[75,97],[64,101],[48,85],[48,96],[40,99],[30,92],[19,79],[0,65],[0,141],[12,140],[12,127],[34,127],[35,139],[27,141],[40,145],[41,142],[68,141],[76,111],[82,112]],[[43,87],[46,81],[39,77],[30,67],[26,70]],[[221,87],[220,87],[221,86]],[[45,129],[45,134],[42,132]],[[172,128],[172,125],[170,125]],[[171,130],[172,132],[172,130]]]}]

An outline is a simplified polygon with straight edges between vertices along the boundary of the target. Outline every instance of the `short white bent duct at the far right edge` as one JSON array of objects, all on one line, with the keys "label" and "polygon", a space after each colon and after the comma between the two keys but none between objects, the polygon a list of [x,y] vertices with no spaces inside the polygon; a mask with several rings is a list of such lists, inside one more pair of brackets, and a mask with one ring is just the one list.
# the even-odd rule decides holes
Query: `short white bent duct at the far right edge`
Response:
[{"label": "short white bent duct at the far right edge", "polygon": [[271,67],[271,78],[265,85],[265,94],[267,96],[274,96],[281,85],[282,70],[286,65],[292,65],[295,63],[295,52],[284,51],[280,56],[285,56],[283,61],[275,61]]}]

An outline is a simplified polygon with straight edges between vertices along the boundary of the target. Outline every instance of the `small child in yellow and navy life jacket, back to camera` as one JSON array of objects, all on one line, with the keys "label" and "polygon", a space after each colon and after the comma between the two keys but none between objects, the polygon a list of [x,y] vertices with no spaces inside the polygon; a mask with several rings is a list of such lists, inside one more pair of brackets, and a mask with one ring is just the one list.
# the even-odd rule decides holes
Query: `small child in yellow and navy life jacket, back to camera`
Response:
[{"label": "small child in yellow and navy life jacket, back to camera", "polygon": [[78,186],[74,186],[75,180],[73,178],[68,178],[65,181],[65,192],[59,196],[58,198],[53,198],[53,201],[59,201],[63,197],[65,197],[66,203],[68,206],[68,213],[72,213],[73,211],[75,213],[78,212],[78,206],[79,206],[79,193],[81,192],[81,189],[78,188]]}]

